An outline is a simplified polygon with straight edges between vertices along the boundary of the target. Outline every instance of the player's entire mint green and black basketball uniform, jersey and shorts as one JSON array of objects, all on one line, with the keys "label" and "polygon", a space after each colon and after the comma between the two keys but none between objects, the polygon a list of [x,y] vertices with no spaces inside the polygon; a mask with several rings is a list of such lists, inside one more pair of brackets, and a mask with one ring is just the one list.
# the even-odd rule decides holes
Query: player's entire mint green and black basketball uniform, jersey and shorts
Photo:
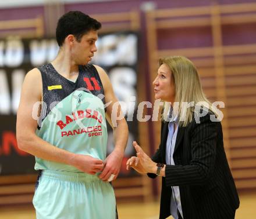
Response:
[{"label": "player's entire mint green and black basketball uniform, jersey and shorts", "polygon": [[[51,64],[39,70],[44,101],[37,136],[74,154],[105,160],[105,98],[95,67],[79,66],[76,82],[58,74]],[[116,218],[113,188],[97,174],[37,157],[35,170],[41,173],[33,198],[38,219]]]}]

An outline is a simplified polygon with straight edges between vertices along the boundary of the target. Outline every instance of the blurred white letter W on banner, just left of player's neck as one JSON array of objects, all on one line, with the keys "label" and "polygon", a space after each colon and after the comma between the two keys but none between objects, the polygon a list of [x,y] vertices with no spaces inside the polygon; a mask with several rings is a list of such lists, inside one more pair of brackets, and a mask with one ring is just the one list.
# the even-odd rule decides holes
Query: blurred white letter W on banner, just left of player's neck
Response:
[{"label": "blurred white letter W on banner, just left of player's neck", "polygon": [[40,66],[54,60],[58,53],[58,44],[54,39],[43,39],[38,41],[34,39],[30,42],[30,61],[33,66]]}]

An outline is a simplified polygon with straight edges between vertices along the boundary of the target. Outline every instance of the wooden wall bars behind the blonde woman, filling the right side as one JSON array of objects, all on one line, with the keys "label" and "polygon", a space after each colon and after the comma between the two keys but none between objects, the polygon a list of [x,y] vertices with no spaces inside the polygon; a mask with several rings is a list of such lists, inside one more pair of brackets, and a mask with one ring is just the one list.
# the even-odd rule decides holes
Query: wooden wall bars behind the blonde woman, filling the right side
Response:
[{"label": "wooden wall bars behind the blonde woman, filling the right side", "polygon": [[[225,103],[223,138],[238,189],[256,188],[255,27],[255,3],[147,13],[151,81],[159,57],[186,56],[197,66],[209,100]],[[154,129],[160,136],[159,123]]]}]

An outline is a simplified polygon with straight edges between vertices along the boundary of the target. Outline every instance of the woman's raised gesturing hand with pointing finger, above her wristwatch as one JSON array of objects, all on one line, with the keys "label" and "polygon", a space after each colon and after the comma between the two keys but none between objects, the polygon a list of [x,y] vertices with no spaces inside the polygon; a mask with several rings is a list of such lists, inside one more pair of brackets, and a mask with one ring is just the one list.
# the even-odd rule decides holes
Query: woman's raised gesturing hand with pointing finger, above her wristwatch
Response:
[{"label": "woman's raised gesturing hand with pointing finger, above her wristwatch", "polygon": [[126,163],[126,169],[133,167],[138,173],[155,173],[157,171],[157,163],[153,162],[150,157],[145,154],[140,145],[133,141],[133,146],[136,149],[137,156],[132,156]]}]

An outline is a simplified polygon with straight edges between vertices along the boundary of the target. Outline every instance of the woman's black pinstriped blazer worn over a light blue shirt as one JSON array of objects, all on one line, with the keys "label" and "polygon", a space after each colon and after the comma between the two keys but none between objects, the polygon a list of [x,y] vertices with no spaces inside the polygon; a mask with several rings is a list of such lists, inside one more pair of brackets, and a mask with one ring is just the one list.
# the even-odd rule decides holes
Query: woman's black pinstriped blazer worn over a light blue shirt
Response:
[{"label": "woman's black pinstriped blazer worn over a light blue shirt", "polygon": [[[214,116],[214,115],[212,115]],[[152,157],[165,162],[168,122],[161,127],[161,144]],[[223,148],[221,122],[211,122],[210,115],[179,127],[175,166],[166,165],[162,177],[159,218],[170,216],[171,186],[179,185],[184,219],[231,219],[239,207],[239,197]],[[151,178],[157,175],[148,173]]]}]

